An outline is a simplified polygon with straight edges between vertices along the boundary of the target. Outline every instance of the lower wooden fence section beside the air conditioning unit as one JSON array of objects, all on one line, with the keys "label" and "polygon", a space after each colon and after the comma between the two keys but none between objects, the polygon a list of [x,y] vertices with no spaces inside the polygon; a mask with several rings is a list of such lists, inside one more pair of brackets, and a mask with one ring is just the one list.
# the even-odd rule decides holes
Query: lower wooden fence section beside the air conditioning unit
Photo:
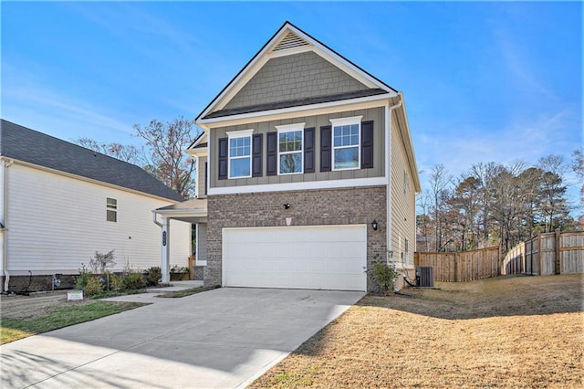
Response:
[{"label": "lower wooden fence section beside the air conditioning unit", "polygon": [[471,281],[499,275],[499,247],[462,253],[414,253],[415,266],[432,266],[436,281]]}]

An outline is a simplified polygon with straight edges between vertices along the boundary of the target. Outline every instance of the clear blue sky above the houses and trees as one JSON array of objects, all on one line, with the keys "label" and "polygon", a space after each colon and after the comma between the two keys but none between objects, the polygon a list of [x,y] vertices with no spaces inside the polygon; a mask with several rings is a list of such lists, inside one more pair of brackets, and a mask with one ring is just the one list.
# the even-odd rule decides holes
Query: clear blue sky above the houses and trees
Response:
[{"label": "clear blue sky above the houses and trees", "polygon": [[582,147],[579,2],[0,6],[1,116],[65,140],[194,119],[288,20],[403,92],[422,186]]}]

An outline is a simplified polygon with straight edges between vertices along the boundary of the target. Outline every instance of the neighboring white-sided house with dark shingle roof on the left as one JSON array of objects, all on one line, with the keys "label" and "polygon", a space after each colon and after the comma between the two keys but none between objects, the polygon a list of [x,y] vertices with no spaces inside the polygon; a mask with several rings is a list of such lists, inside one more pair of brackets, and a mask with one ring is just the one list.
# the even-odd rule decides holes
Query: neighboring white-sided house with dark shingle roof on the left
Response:
[{"label": "neighboring white-sided house with dark shingle roof on the left", "polygon": [[[160,267],[151,211],[183,200],[138,166],[4,120],[0,199],[0,271],[16,291],[78,274],[96,251],[115,249],[113,271]],[[191,225],[171,230],[170,264],[186,267]]]}]

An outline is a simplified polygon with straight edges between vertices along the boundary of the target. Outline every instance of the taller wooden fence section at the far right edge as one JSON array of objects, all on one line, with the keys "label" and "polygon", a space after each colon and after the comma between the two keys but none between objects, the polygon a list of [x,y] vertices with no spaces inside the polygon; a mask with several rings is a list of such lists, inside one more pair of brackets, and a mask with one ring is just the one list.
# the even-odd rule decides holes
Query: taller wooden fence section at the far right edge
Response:
[{"label": "taller wooden fence section at the far right edge", "polygon": [[534,276],[584,273],[584,231],[537,233],[506,254],[501,270]]}]

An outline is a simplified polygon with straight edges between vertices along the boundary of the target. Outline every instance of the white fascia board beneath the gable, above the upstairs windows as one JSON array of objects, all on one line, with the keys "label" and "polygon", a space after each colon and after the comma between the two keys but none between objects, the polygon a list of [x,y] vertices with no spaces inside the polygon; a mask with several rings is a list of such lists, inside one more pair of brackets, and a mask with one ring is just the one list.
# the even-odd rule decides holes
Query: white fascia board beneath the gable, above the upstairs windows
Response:
[{"label": "white fascia board beneath the gable, above the upstairs windows", "polygon": [[[326,113],[333,113],[339,110],[361,110],[364,108],[379,107],[379,101],[388,100],[393,97],[391,94],[384,93],[382,95],[367,96],[351,100],[328,101],[319,104],[300,105],[297,107],[282,108],[279,110],[261,110],[258,112],[242,113],[239,115],[224,116],[221,118],[203,119],[199,121],[201,124],[213,125],[213,127],[223,127],[227,125],[244,124],[247,122],[267,121],[274,116],[277,119],[290,119],[297,116],[298,112],[302,112],[303,116],[312,116]],[[377,105],[375,104],[377,102]]]}]

